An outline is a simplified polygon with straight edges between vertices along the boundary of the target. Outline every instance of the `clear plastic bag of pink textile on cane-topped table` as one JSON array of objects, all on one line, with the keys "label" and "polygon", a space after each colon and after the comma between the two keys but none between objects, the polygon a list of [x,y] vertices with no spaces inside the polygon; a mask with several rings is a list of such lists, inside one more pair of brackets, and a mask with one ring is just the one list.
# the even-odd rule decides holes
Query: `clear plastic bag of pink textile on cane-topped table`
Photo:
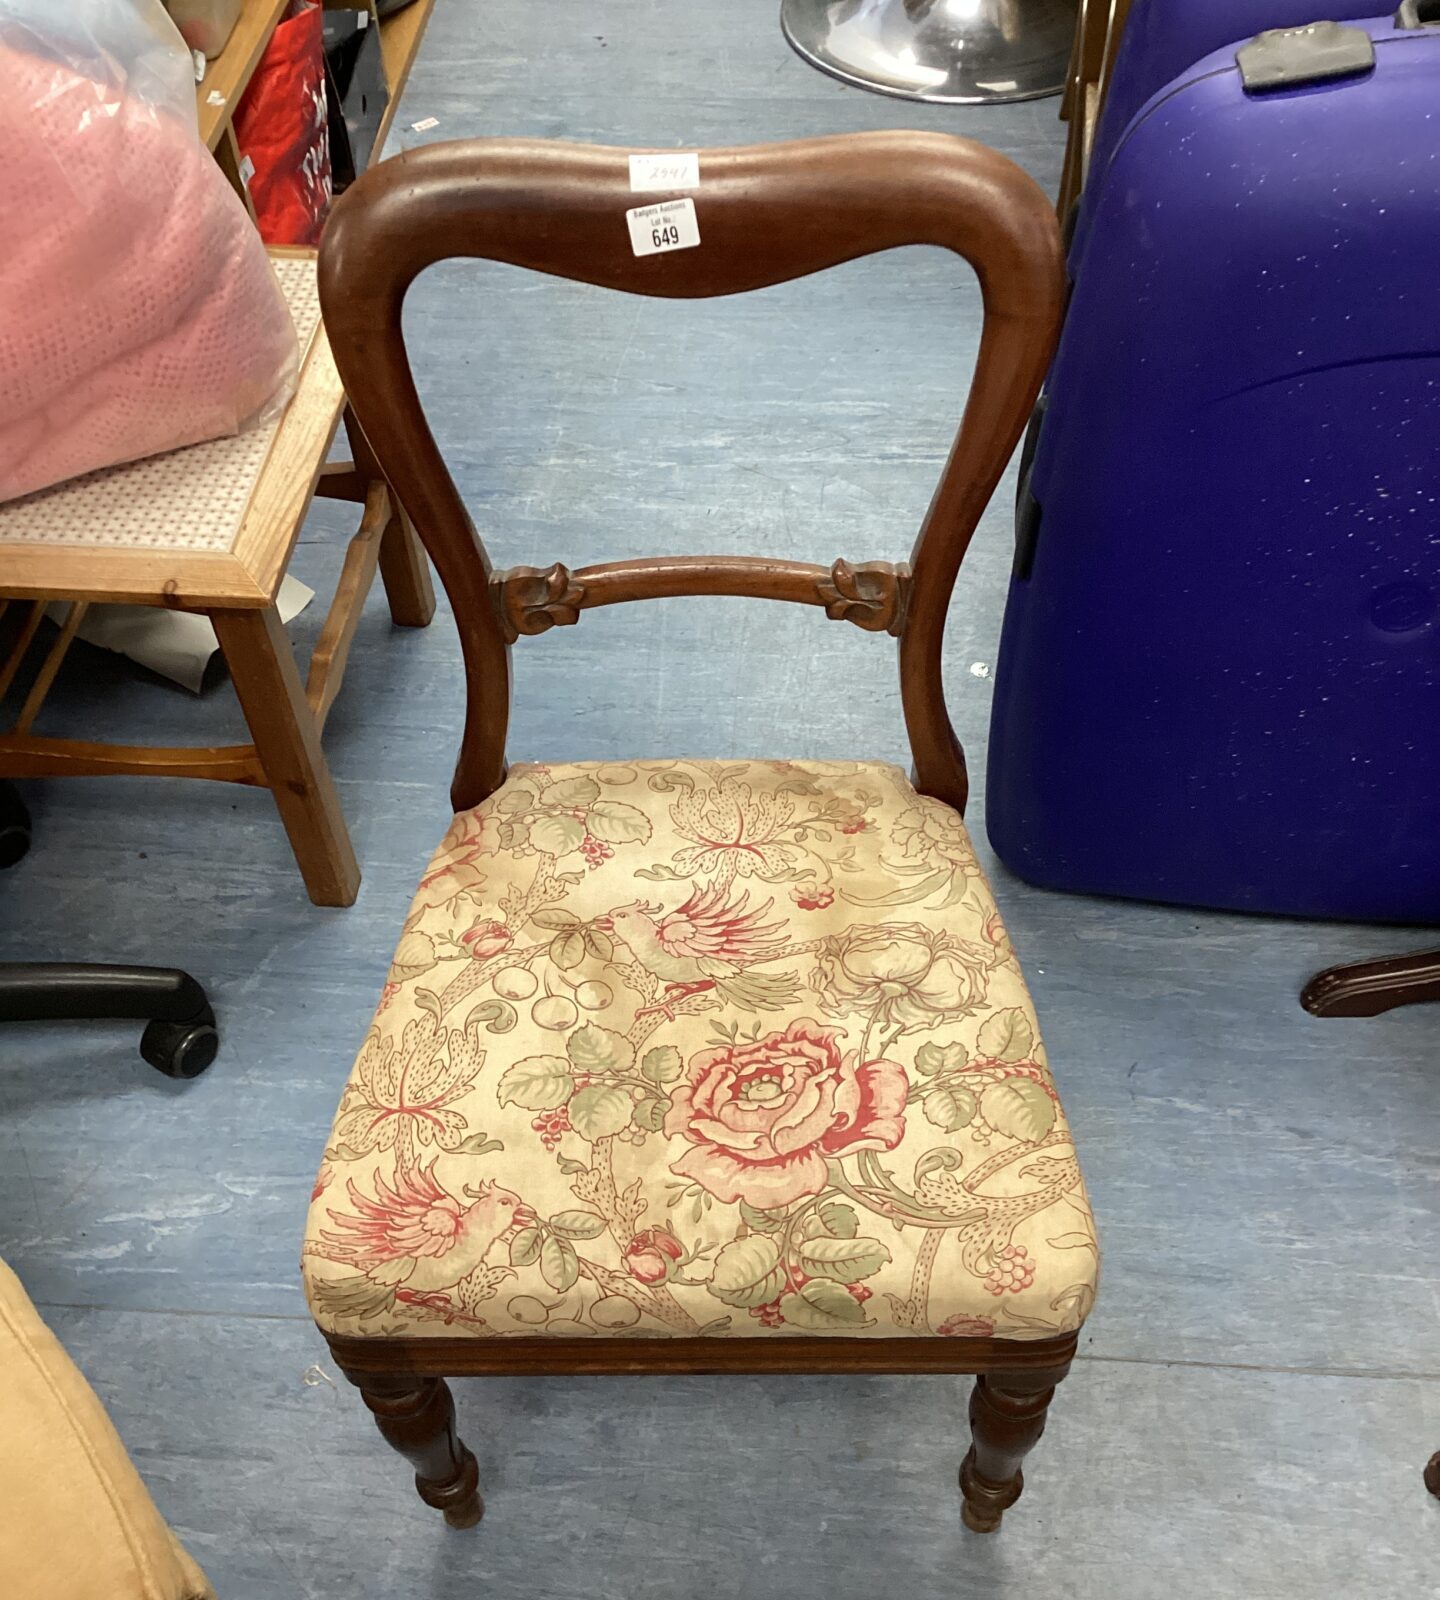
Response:
[{"label": "clear plastic bag of pink textile on cane-topped table", "polygon": [[0,0],[0,499],[270,419],[294,325],[160,0]]}]

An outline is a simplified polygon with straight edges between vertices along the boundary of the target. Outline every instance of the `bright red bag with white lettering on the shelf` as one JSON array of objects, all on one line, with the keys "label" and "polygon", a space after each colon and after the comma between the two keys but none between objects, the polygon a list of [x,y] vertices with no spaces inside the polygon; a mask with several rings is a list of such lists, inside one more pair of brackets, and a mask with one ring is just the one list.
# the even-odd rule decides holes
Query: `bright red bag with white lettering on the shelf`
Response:
[{"label": "bright red bag with white lettering on the shelf", "polygon": [[296,0],[235,107],[242,170],[267,245],[318,245],[330,210],[325,18]]}]

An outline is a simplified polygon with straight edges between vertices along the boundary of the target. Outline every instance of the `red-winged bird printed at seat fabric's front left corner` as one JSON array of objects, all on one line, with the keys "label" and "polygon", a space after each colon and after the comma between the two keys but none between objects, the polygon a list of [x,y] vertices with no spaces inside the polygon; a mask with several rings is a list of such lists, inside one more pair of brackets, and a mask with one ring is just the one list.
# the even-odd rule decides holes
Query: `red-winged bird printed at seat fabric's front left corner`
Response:
[{"label": "red-winged bird printed at seat fabric's front left corner", "polygon": [[[453,1195],[429,1166],[398,1168],[394,1182],[374,1178],[374,1198],[346,1182],[355,1211],[330,1211],[317,1254],[357,1270],[331,1278],[323,1294],[336,1314],[378,1317],[397,1301],[450,1306],[448,1291],[485,1262],[490,1248],[534,1211],[520,1195],[493,1182],[466,1184]],[[469,1203],[466,1203],[469,1202]]]}]

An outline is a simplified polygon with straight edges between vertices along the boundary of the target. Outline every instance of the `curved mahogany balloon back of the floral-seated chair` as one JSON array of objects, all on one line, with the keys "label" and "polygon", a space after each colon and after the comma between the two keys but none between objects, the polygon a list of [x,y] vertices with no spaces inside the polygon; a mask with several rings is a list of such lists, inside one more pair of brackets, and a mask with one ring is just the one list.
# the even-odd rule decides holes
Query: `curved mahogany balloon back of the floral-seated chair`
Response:
[{"label": "curved mahogany balloon back of the floral-seated chair", "polygon": [[[965,758],[946,712],[941,643],[955,574],[1050,362],[1061,245],[1040,189],[968,139],[859,133],[699,152],[699,245],[637,256],[624,149],[539,139],[429,146],[368,171],[336,205],[320,248],[320,302],[350,405],[414,522],[454,608],[467,714],[451,798],[477,805],[506,771],[509,646],[581,610],[675,594],[822,605],[899,638],[917,787],[957,810]],[[494,571],[416,394],[402,333],[426,267],[472,256],[630,294],[704,298],[784,283],[899,245],[942,245],[974,267],[984,330],[960,430],[910,565],[766,557],[659,557]]]}]

